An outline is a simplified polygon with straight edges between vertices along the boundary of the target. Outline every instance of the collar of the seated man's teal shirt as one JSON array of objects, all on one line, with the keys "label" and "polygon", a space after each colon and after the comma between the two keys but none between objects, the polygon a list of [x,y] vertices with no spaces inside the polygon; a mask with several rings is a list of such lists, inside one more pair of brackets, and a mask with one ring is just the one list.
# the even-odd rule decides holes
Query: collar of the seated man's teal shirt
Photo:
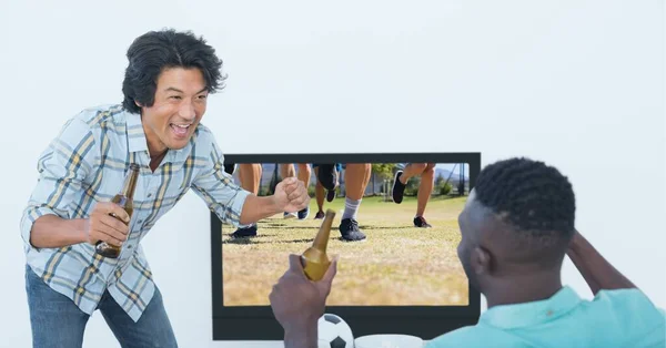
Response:
[{"label": "collar of the seated man's teal shirt", "polygon": [[576,291],[565,286],[548,299],[493,307],[481,316],[480,321],[506,329],[534,326],[566,315],[581,301]]}]

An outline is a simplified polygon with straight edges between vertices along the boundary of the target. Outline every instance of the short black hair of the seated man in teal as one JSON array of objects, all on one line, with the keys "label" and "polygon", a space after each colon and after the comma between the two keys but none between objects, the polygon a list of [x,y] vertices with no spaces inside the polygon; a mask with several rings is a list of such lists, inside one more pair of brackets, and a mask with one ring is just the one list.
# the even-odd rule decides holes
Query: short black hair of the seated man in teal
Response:
[{"label": "short black hair of the seated man in teal", "polygon": [[476,201],[517,231],[534,237],[555,233],[566,240],[574,234],[572,184],[544,162],[514,157],[490,164],[478,174],[474,192]]}]

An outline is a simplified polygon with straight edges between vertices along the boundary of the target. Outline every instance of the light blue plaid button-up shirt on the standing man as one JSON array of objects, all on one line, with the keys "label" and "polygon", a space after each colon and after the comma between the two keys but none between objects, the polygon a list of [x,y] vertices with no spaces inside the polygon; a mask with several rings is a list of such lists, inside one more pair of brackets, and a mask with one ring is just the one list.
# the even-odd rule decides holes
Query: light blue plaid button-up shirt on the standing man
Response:
[{"label": "light blue plaid button-up shirt on the standing man", "polygon": [[[182,150],[170,150],[151,172],[141,116],[120,105],[84,110],[69,120],[38,162],[39,180],[21,219],[28,265],[56,291],[92,314],[104,293],[134,320],[154,294],[154,283],[140,242],[155,222],[192,188],[211,211],[240,224],[248,192],[224,173],[214,136],[199,125]],[[89,243],[58,248],[30,244],[34,221],[47,214],[87,218],[97,202],[121,188],[130,163],[141,166],[130,234],[119,258],[104,258]]]}]

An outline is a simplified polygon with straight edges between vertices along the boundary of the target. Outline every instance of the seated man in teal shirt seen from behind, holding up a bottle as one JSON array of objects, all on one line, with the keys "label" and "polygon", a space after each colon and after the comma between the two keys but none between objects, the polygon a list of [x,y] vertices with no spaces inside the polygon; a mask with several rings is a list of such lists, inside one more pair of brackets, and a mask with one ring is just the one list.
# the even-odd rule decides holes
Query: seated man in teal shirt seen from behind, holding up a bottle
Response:
[{"label": "seated man in teal shirt seen from behind, holding up a bottle", "polygon": [[[458,217],[457,254],[488,310],[477,325],[426,347],[664,347],[664,311],[575,229],[575,211],[568,180],[542,162],[512,158],[485,167]],[[565,255],[594,300],[562,285]],[[271,306],[285,347],[315,347],[336,263],[312,283],[290,257]]]}]

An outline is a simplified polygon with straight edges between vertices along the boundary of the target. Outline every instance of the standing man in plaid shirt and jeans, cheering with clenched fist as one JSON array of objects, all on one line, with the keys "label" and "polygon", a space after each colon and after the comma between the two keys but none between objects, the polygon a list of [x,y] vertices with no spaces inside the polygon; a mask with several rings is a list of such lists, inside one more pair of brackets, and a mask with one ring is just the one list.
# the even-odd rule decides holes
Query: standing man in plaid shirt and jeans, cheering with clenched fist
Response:
[{"label": "standing man in plaid shirt and jeans, cheering with clenched fist", "polygon": [[[21,219],[34,347],[81,347],[95,309],[122,347],[176,347],[140,242],[190,188],[235,226],[310,202],[295,177],[259,197],[224,172],[215,139],[200,123],[209,94],[224,80],[222,61],[203,39],[149,32],[127,57],[122,104],[70,119],[38,162]],[[130,164],[141,167],[131,219],[110,203]],[[99,240],[121,245],[120,256],[95,254]]]}]

